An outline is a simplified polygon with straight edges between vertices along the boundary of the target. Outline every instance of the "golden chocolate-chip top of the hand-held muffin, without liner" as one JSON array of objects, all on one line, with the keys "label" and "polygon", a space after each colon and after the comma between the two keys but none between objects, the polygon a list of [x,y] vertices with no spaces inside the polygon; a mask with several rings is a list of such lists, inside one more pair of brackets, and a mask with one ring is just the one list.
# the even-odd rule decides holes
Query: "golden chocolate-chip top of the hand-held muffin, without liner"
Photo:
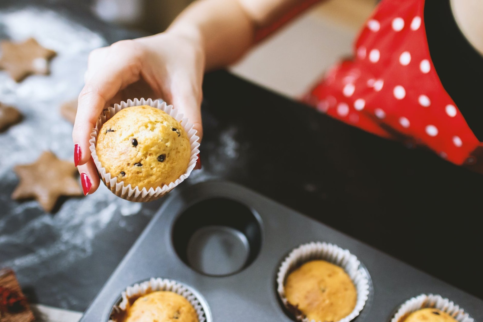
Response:
[{"label": "golden chocolate-chip top of the hand-held muffin, without liner", "polygon": [[149,105],[126,107],[105,122],[97,138],[101,165],[117,182],[157,188],[183,175],[190,159],[188,136],[166,112]]}]

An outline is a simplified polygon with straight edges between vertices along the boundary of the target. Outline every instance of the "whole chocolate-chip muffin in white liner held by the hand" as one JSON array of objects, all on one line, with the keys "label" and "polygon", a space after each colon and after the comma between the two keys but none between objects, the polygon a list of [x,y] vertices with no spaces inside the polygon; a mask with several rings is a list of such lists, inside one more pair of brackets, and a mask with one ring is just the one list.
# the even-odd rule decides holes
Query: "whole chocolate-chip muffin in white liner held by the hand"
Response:
[{"label": "whole chocolate-chip muffin in white liner held by the hand", "polygon": [[130,201],[151,201],[195,167],[199,137],[171,105],[134,100],[110,107],[91,134],[90,150],[106,186]]}]

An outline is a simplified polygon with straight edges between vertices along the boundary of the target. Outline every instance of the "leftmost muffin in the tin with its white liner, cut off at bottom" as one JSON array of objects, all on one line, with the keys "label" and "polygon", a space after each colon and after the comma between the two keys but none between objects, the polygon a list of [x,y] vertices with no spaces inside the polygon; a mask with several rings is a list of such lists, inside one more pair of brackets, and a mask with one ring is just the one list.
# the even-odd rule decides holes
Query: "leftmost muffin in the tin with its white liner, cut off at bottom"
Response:
[{"label": "leftmost muffin in the tin with its white liner, cut off at bottom", "polygon": [[121,297],[109,322],[207,321],[198,296],[174,280],[151,278],[129,286]]}]

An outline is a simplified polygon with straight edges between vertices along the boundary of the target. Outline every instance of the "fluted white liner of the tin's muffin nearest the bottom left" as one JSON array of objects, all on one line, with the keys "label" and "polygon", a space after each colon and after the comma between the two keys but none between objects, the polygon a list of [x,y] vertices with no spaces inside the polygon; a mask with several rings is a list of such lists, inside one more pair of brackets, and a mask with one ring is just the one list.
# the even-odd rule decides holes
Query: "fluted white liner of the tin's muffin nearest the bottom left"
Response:
[{"label": "fluted white liner of the tin's muffin nearest the bottom left", "polygon": [[[151,278],[137,283],[121,293],[121,301],[114,305],[109,316],[109,322],[123,322],[128,309],[141,296],[157,291],[168,291],[183,296],[195,309],[199,322],[211,322],[208,307],[194,290],[175,280],[165,278]],[[179,317],[174,317],[178,319]]]}]

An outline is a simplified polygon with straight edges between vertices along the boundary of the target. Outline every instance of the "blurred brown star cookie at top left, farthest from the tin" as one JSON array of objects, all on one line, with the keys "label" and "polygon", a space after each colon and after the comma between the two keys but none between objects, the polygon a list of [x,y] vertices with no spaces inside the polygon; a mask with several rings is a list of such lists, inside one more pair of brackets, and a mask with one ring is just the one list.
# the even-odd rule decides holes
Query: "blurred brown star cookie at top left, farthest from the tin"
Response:
[{"label": "blurred brown star cookie at top left, farthest from the tin", "polygon": [[15,82],[30,74],[48,74],[49,60],[56,55],[55,51],[42,47],[33,38],[23,43],[4,41],[0,47],[0,68],[6,70]]}]

